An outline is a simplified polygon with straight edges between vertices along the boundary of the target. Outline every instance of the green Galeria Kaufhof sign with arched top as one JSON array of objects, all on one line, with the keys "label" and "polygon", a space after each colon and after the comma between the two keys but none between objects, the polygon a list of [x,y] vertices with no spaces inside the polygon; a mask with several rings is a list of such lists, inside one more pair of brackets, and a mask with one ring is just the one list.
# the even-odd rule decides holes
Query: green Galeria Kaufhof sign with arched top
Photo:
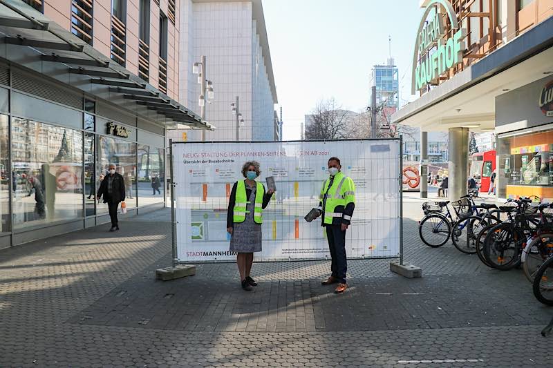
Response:
[{"label": "green Galeria Kaufhof sign with arched top", "polygon": [[[462,61],[467,30],[459,28],[453,6],[447,0],[426,0],[426,7],[420,21],[413,56],[413,84],[411,93],[421,90]],[[453,37],[445,39],[443,12],[449,18]],[[432,50],[431,53],[429,53]],[[420,63],[418,62],[420,60]]]}]

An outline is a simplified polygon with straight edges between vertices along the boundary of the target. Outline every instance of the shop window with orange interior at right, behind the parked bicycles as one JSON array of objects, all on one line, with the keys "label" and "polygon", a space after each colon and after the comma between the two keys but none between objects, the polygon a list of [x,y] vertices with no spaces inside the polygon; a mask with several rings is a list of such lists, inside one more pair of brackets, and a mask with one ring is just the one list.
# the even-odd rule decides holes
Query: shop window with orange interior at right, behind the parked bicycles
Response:
[{"label": "shop window with orange interior at right, behind the parked bicycles", "polygon": [[498,195],[553,199],[553,127],[498,138]]}]

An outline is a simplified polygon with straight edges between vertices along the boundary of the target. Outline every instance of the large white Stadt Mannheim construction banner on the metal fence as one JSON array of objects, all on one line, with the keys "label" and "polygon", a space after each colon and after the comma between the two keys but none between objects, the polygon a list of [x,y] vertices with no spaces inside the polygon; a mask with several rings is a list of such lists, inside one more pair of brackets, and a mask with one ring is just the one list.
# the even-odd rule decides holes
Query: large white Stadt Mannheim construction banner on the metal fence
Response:
[{"label": "large white Stadt Mannheim construction banner on the metal fence", "polygon": [[263,251],[256,260],[330,258],[321,217],[304,217],[319,204],[328,159],[341,159],[355,182],[355,212],[346,233],[348,258],[400,254],[399,139],[325,142],[173,143],[179,262],[235,260],[229,251],[227,210],[233,184],[247,161],[261,164],[257,180],[277,186],[263,211]]}]

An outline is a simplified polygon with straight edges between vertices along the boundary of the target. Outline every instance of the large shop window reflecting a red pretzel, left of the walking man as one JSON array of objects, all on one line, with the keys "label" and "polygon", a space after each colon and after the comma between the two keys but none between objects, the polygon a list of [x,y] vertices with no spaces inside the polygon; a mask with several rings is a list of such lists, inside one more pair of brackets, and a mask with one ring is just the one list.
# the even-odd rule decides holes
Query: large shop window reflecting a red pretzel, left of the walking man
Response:
[{"label": "large shop window reflecting a red pretzel, left of the walking man", "polygon": [[82,132],[12,117],[13,227],[83,216]]}]

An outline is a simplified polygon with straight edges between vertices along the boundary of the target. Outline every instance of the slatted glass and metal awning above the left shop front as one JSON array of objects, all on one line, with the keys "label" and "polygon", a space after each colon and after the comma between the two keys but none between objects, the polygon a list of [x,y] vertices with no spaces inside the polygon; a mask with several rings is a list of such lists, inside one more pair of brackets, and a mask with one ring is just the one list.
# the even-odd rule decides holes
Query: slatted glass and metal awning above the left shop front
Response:
[{"label": "slatted glass and metal awning above the left shop front", "polygon": [[[166,126],[214,130],[214,126],[129,70],[111,61],[23,1],[0,0],[0,57],[41,72],[108,101],[131,102],[133,110]],[[8,48],[11,46],[11,48]],[[21,55],[10,52],[21,48]],[[128,108],[129,104],[124,104]]]}]

